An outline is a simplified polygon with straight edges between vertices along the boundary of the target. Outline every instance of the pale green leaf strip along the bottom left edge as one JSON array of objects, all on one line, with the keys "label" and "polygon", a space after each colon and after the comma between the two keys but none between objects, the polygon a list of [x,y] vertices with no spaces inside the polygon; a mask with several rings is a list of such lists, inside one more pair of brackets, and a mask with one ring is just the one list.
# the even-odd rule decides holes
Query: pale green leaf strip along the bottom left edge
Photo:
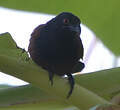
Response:
[{"label": "pale green leaf strip along the bottom left edge", "polygon": [[0,110],[80,110],[63,102],[48,100],[33,103],[19,103],[8,107],[0,107]]}]

